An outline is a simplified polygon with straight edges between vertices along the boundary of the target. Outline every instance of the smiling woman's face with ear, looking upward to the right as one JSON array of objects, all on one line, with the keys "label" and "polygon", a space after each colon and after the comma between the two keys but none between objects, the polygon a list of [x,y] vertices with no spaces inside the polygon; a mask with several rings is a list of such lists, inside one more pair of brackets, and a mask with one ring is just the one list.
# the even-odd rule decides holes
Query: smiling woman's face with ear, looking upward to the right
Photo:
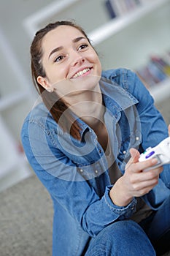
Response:
[{"label": "smiling woman's face with ear, looking upward to the right", "polygon": [[101,77],[101,62],[88,39],[72,26],[58,26],[42,40],[42,65],[46,78],[37,78],[59,96],[93,90]]}]

